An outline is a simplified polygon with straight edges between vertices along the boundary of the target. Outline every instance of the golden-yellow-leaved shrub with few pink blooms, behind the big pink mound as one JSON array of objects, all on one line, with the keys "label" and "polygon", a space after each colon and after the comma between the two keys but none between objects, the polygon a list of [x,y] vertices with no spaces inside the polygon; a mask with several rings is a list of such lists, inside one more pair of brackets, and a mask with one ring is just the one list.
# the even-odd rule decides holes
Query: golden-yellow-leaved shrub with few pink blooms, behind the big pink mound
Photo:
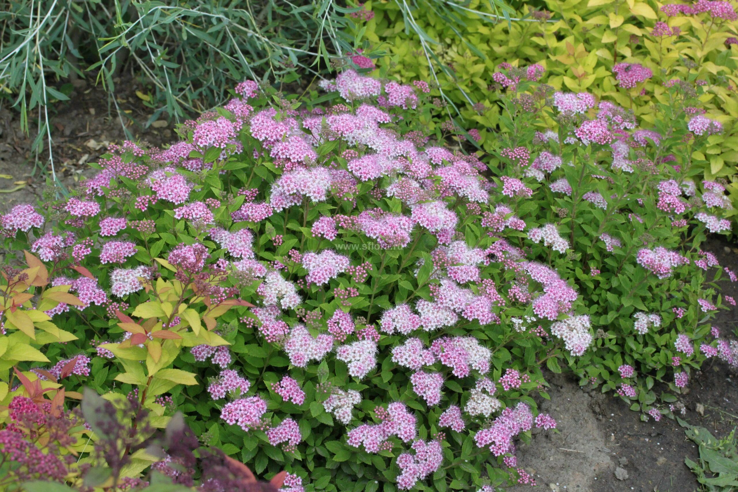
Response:
[{"label": "golden-yellow-leaved shrub with few pink blooms, behind the big pink mound", "polygon": [[[449,114],[457,117],[458,110],[465,126],[479,128],[479,145],[488,151],[496,145],[494,132],[507,130],[500,89],[509,90],[520,80],[541,80],[557,91],[587,91],[611,100],[632,109],[645,128],[656,124],[653,105],[671,103],[672,80],[693,80],[700,111],[724,127],[694,154],[693,165],[707,181],[727,178],[728,195],[738,204],[734,2],[520,2],[510,16],[523,20],[508,23],[497,17],[500,12],[492,3],[472,0],[452,15],[461,28],[424,2],[369,0],[364,8],[372,15],[356,21],[355,32],[367,40],[365,55],[375,57],[372,66],[407,77],[407,82],[438,80],[453,104]],[[531,69],[536,66],[545,74]],[[434,88],[432,94],[441,91]],[[443,119],[438,123],[453,126]],[[429,122],[432,128],[438,123]]]}]

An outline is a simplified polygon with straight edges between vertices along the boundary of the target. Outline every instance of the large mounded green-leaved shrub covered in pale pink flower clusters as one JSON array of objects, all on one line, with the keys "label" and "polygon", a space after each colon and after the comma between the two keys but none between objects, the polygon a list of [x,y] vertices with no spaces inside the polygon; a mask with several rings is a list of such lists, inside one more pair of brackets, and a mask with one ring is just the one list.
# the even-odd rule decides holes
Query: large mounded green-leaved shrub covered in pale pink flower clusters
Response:
[{"label": "large mounded green-leaved shrub covered in pale pink flower clusters", "polygon": [[736,363],[705,324],[723,299],[700,243],[729,201],[689,179],[709,137],[688,83],[639,130],[591,94],[516,84],[491,156],[430,134],[427,84],[320,85],[239,84],[169,148],[114,146],[45,229],[28,207],[1,219],[79,298],[36,306],[77,337],[46,350],[75,376],[59,384],[128,395],[152,426],[178,409],[292,492],[491,490],[534,483],[514,441],[556,427],[532,398],[544,364],[655,417],[655,381]]}]

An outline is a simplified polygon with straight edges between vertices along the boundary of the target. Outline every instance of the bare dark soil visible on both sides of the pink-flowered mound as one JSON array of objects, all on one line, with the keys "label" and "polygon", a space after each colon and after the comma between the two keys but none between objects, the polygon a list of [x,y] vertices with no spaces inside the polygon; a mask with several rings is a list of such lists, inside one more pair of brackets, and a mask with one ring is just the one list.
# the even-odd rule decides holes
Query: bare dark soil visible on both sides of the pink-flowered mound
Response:
[{"label": "bare dark soil visible on both sides of the pink-flowered mound", "polygon": [[[173,124],[164,120],[143,128],[154,112],[136,96],[136,83],[117,84],[126,90],[117,95],[122,111],[131,117],[125,125],[134,140],[161,145],[175,138]],[[4,105],[3,105],[4,103]],[[111,109],[111,110],[109,110]],[[77,85],[70,101],[57,103],[52,122],[52,152],[58,179],[75,187],[90,174],[88,162],[105,153],[108,143],[126,138],[121,119],[108,107],[105,91]],[[32,128],[32,132],[35,131]],[[36,165],[32,138],[21,132],[18,112],[0,101],[0,209],[42,198],[48,170]],[[42,156],[41,162],[46,159]],[[720,258],[721,266],[738,271],[738,244],[713,240],[708,250]],[[738,285],[723,283],[723,294],[738,298]],[[738,310],[723,311],[714,323],[724,335],[734,333]],[[697,447],[687,440],[675,420],[641,421],[620,398],[593,387],[579,387],[568,375],[547,373],[551,401],[542,402],[542,412],[556,419],[556,432],[534,431],[530,444],[521,444],[519,465],[534,474],[537,490],[554,492],[693,492],[700,485],[684,464],[685,457],[697,460]],[[689,393],[680,401],[687,412],[683,419],[706,427],[717,437],[725,437],[738,426],[738,374],[715,360],[702,373],[693,374]],[[615,477],[615,469],[618,477]],[[627,478],[625,478],[627,477]],[[508,488],[522,492],[529,486]]]}]

